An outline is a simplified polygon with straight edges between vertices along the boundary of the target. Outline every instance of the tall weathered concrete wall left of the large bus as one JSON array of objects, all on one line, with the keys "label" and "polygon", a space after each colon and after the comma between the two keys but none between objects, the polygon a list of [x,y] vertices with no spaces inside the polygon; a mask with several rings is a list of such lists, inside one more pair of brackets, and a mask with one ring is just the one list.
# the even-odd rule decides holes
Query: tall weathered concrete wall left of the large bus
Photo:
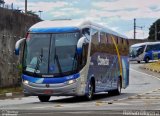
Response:
[{"label": "tall weathered concrete wall left of the large bus", "polygon": [[39,21],[38,17],[0,8],[0,87],[17,84],[19,57],[14,54],[15,43]]}]

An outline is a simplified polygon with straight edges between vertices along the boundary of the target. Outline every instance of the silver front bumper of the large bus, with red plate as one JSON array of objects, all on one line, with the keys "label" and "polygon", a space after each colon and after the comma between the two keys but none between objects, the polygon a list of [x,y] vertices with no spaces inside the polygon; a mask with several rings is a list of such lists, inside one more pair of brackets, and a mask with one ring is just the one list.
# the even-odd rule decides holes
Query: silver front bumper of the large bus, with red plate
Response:
[{"label": "silver front bumper of the large bus, with red plate", "polygon": [[73,84],[36,84],[36,83],[23,83],[25,96],[83,96],[84,91],[80,91],[78,81]]}]

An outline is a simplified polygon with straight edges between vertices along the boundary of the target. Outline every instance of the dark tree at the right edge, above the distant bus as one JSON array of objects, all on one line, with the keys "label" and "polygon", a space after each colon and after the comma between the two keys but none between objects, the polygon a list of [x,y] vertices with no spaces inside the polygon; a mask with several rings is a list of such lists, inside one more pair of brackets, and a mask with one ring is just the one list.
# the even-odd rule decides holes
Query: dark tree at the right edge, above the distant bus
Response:
[{"label": "dark tree at the right edge, above the distant bus", "polygon": [[149,28],[149,40],[155,40],[155,33],[157,33],[157,40],[160,40],[160,19],[156,20]]}]

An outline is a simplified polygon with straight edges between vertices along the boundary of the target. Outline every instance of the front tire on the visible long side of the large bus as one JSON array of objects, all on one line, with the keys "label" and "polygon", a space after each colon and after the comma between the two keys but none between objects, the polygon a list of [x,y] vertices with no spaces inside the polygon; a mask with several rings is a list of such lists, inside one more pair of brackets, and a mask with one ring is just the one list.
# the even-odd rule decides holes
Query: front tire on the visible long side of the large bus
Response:
[{"label": "front tire on the visible long side of the large bus", "polygon": [[90,83],[88,84],[88,93],[86,94],[87,100],[92,100],[94,95],[94,80],[91,79]]}]

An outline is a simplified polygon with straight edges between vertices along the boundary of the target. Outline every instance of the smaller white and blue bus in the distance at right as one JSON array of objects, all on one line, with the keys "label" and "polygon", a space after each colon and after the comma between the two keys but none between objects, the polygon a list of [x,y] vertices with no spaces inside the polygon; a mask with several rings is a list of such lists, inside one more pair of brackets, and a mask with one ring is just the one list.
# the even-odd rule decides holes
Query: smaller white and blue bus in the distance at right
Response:
[{"label": "smaller white and blue bus in the distance at right", "polygon": [[144,42],[130,47],[130,61],[145,61],[160,59],[160,42]]}]

